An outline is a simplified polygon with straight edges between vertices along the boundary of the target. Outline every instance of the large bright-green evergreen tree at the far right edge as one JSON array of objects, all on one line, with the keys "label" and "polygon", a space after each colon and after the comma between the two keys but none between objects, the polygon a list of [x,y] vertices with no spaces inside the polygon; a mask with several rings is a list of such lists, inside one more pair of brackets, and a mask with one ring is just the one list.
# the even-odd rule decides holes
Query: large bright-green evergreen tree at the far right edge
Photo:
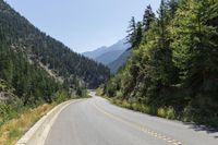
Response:
[{"label": "large bright-green evergreen tree at the far right edge", "polygon": [[[218,17],[213,0],[182,1],[174,20],[173,58],[180,69],[181,83],[189,90],[189,99],[196,118],[206,113],[218,120],[213,109],[217,108],[218,83]],[[183,17],[183,19],[181,19]],[[211,22],[211,23],[209,23]],[[197,100],[197,101],[196,101]],[[208,116],[201,117],[203,122]]]}]

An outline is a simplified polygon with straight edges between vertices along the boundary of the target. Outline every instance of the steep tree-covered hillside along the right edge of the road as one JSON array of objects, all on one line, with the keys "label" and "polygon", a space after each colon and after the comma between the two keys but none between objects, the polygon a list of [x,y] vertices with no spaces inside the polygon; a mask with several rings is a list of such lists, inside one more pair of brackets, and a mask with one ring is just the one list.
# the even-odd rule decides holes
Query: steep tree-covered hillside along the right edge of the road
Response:
[{"label": "steep tree-covered hillside along the right edge of the road", "polygon": [[133,55],[105,86],[122,106],[218,126],[218,1],[161,0],[132,17]]}]

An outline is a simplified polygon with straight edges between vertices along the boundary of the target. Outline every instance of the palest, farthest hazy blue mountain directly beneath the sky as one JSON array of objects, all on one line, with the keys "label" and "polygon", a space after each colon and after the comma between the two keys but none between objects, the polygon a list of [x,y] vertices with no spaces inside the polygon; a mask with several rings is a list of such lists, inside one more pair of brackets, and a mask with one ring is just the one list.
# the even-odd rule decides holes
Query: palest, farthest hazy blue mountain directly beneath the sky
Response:
[{"label": "palest, farthest hazy blue mountain directly beneath the sky", "polygon": [[110,47],[101,47],[94,51],[84,52],[83,55],[100,62],[105,65],[117,60],[125,50],[130,48],[125,39],[119,40]]}]

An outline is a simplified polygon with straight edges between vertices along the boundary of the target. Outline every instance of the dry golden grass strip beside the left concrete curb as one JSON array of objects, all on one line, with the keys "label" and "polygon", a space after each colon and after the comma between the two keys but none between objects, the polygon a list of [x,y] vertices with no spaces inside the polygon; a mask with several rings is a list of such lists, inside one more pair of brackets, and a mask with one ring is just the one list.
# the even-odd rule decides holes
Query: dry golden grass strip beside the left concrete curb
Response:
[{"label": "dry golden grass strip beside the left concrete curb", "polygon": [[53,107],[55,105],[41,105],[3,124],[0,128],[0,145],[14,145],[36,121]]}]

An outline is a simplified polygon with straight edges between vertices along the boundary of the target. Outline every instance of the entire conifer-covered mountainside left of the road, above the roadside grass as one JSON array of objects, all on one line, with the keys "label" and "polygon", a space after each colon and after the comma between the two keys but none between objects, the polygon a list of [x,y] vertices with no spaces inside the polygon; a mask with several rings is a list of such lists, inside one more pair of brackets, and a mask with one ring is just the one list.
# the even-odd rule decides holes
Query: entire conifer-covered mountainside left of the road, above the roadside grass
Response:
[{"label": "entire conifer-covered mountainside left of the road, above the roadside grass", "polygon": [[108,68],[73,52],[0,0],[0,93],[8,86],[25,104],[51,101],[58,90],[80,94],[80,86],[95,88],[109,75]]}]

